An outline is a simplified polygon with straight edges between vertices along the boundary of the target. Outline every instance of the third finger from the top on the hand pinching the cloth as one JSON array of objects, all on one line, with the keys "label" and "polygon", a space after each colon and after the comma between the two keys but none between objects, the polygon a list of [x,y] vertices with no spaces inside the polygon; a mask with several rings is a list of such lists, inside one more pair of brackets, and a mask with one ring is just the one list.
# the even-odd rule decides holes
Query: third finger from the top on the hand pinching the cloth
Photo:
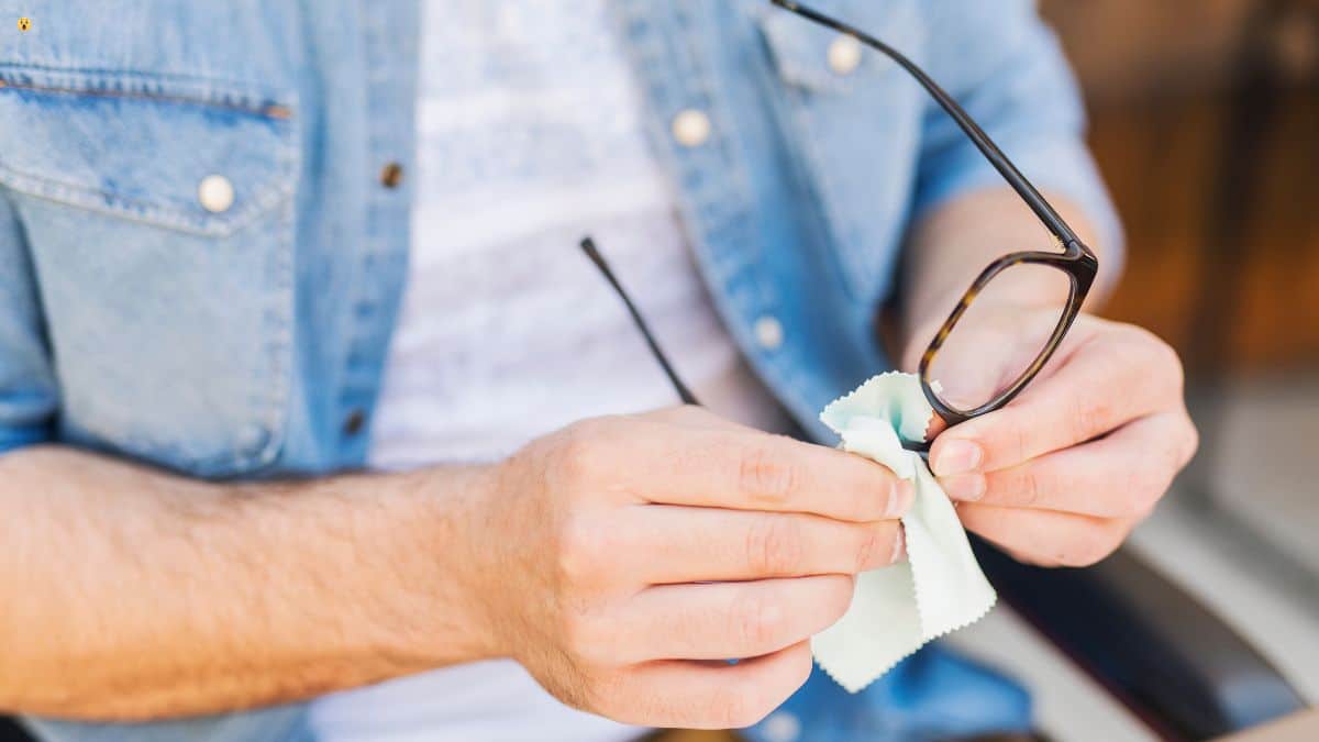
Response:
[{"label": "third finger from the top on the hand pinching the cloth", "polygon": [[648,588],[615,614],[627,634],[601,636],[600,651],[628,663],[754,658],[832,626],[852,591],[836,574]]}]

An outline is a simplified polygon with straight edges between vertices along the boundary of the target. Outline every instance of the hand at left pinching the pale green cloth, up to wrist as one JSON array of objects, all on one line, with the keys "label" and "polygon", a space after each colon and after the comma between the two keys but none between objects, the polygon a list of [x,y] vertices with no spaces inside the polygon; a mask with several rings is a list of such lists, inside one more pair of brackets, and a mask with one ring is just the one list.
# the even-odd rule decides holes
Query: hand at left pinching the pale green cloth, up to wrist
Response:
[{"label": "hand at left pinching the pale green cloth, up to wrist", "polygon": [[[491,648],[572,706],[749,726],[811,669],[909,483],[699,408],[588,420],[492,467],[468,528]],[[728,664],[728,659],[741,659]]]}]

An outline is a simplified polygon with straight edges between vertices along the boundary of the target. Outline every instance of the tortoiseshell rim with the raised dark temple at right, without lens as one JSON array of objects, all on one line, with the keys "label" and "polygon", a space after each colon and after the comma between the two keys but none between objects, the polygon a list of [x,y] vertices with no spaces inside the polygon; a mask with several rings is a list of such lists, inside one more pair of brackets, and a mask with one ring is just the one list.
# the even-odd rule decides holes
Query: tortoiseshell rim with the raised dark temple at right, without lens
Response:
[{"label": "tortoiseshell rim with the raised dark temple at right, without lens", "polygon": [[[925,351],[925,355],[921,356],[921,389],[925,392],[925,397],[930,401],[930,407],[933,407],[934,411],[939,415],[939,417],[942,417],[943,421],[947,422],[950,426],[956,425],[959,422],[966,422],[972,417],[979,417],[981,415],[987,415],[989,412],[1000,409],[1001,407],[1012,401],[1013,397],[1021,393],[1021,391],[1026,388],[1026,386],[1030,384],[1030,382],[1034,380],[1034,378],[1039,374],[1039,370],[1043,368],[1045,363],[1049,362],[1054,351],[1058,350],[1058,346],[1062,345],[1063,338],[1067,335],[1067,330],[1071,329],[1072,322],[1076,320],[1076,316],[1080,314],[1080,308],[1086,302],[1086,296],[1089,293],[1091,285],[1095,283],[1095,275],[1099,272],[1099,260],[1095,257],[1095,253],[1091,252],[1091,250],[1080,242],[1080,239],[1076,236],[1076,232],[1072,231],[1072,228],[1067,224],[1067,222],[1064,222],[1063,218],[1058,215],[1058,211],[1055,211],[1054,207],[1050,206],[1050,203],[1045,199],[1043,195],[1041,195],[1041,193],[1035,189],[1035,186],[1031,185],[1030,181],[1028,181],[1026,177],[1021,174],[1017,166],[1013,165],[1010,160],[1008,160],[1008,156],[1004,154],[1002,151],[1000,151],[998,147],[993,143],[993,140],[989,139],[989,135],[987,135],[984,129],[981,129],[980,125],[976,124],[976,121],[962,108],[962,106],[958,104],[958,102],[954,100],[952,96],[948,95],[942,87],[939,87],[930,78],[930,75],[925,73],[925,70],[915,66],[914,62],[907,59],[897,49],[893,49],[888,44],[884,44],[882,41],[867,33],[863,33],[842,21],[831,18],[818,11],[807,8],[806,5],[801,5],[798,3],[793,3],[790,0],[770,0],[770,1],[810,21],[834,29],[839,33],[851,36],[857,41],[860,41],[861,44],[865,44],[867,46],[882,53],[884,55],[897,62],[898,66],[901,66],[913,78],[915,78],[915,81],[921,83],[921,87],[923,87],[939,103],[939,106],[943,107],[943,110],[947,111],[950,116],[952,116],[952,119],[958,123],[958,125],[962,127],[962,131],[966,132],[966,135],[971,139],[971,141],[975,143],[975,145],[980,149],[980,152],[985,156],[985,158],[989,160],[989,164],[993,165],[996,170],[998,170],[998,174],[1001,174],[1004,180],[1008,181],[1008,185],[1010,185],[1012,189],[1017,191],[1017,195],[1020,195],[1022,201],[1026,202],[1030,210],[1034,211],[1035,217],[1038,217],[1039,220],[1043,222],[1045,227],[1047,227],[1049,231],[1054,235],[1054,238],[1058,239],[1058,243],[1063,246],[1062,253],[1013,252],[1010,255],[1000,257],[998,260],[995,260],[988,268],[984,269],[983,273],[980,273],[980,277],[977,277],[976,281],[971,285],[971,288],[967,289],[967,293],[962,296],[962,301],[958,302],[958,306],[952,310],[952,314],[948,316],[948,320],[943,323],[943,326],[939,329],[939,333],[934,337],[934,341],[930,342],[930,347]],[[1013,382],[1012,386],[1009,386],[1006,389],[998,393],[998,396],[975,409],[956,409],[948,407],[947,404],[943,403],[943,400],[939,399],[939,395],[934,392],[933,379],[930,379],[930,363],[934,360],[935,355],[939,354],[939,349],[943,346],[943,342],[948,338],[948,334],[952,333],[952,329],[956,327],[958,321],[962,320],[962,316],[966,314],[967,308],[971,306],[971,302],[975,301],[976,296],[984,289],[985,284],[993,280],[993,277],[1001,273],[1002,271],[1022,263],[1033,263],[1033,264],[1058,268],[1059,271],[1067,273],[1067,276],[1071,279],[1071,292],[1067,300],[1067,306],[1063,310],[1060,320],[1058,321],[1058,326],[1054,327],[1054,333],[1049,338],[1049,343],[1039,353],[1039,355],[1030,364],[1030,367],[1026,368],[1025,374],[1022,374],[1020,379]],[[929,452],[930,449],[929,442],[923,444],[913,442],[913,444],[906,444],[906,446],[911,450],[919,450],[919,452]]]}]

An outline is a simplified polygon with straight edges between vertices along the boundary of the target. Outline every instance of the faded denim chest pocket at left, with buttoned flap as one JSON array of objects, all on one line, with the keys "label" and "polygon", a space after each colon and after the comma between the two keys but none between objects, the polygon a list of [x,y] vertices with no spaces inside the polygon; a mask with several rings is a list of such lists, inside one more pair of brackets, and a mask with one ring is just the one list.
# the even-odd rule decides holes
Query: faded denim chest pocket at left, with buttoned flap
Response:
[{"label": "faded denim chest pocket at left, with buttoned flap", "polygon": [[0,65],[0,186],[67,441],[197,475],[276,457],[290,380],[291,96]]}]

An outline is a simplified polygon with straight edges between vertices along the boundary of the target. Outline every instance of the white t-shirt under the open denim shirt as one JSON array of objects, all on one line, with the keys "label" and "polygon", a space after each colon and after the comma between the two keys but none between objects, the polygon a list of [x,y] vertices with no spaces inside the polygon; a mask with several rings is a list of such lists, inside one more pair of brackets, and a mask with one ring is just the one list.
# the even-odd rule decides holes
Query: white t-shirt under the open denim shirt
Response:
[{"label": "white t-shirt under the open denim shirt", "polygon": [[[426,0],[410,279],[373,425],[380,470],[496,461],[575,420],[678,403],[587,232],[703,403],[783,421],[715,314],[607,0]],[[322,741],[612,742],[513,661],[311,706]]]}]

